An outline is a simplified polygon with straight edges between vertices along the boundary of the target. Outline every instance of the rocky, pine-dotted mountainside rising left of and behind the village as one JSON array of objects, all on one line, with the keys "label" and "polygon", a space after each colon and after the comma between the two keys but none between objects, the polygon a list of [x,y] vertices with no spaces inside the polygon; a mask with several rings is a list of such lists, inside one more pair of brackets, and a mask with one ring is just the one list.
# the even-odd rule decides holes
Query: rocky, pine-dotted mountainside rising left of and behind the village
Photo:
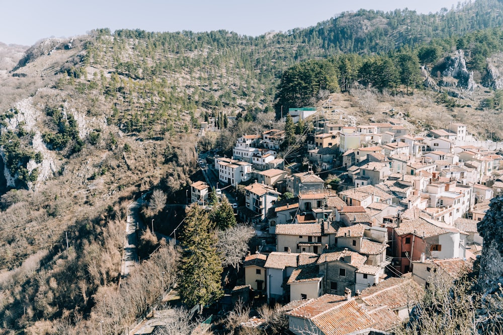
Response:
[{"label": "rocky, pine-dotted mountainside rising left of and behind the village", "polygon": [[[258,37],[105,28],[28,50],[2,45],[0,334],[96,333],[101,319],[119,313],[113,301],[141,300],[121,300],[124,318],[104,331],[118,333],[155,298],[142,283],[175,281],[178,254],[166,247],[130,277],[137,287],[116,290],[127,205],[152,188],[184,202],[202,121],[236,117],[198,143],[225,150],[247,131],[283,127],[273,123],[282,108],[366,90],[404,104],[421,91],[452,118],[483,111],[491,122],[485,116],[503,107],[493,71],[502,10],[478,0],[430,15],[343,13]],[[478,91],[444,75],[459,49]],[[166,217],[155,216],[160,230]],[[159,245],[148,234],[142,243]],[[133,298],[136,291],[143,296]]]}]

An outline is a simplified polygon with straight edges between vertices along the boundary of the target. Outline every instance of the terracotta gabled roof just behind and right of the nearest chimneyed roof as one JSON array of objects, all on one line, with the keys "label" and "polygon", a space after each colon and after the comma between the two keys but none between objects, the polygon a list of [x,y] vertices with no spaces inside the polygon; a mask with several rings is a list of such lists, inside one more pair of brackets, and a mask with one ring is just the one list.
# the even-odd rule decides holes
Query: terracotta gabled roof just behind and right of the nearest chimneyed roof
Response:
[{"label": "terracotta gabled roof just behind and right of the nearest chimneyed roof", "polygon": [[368,305],[386,305],[391,309],[414,305],[423,298],[424,289],[410,275],[389,278],[364,289],[360,298]]}]

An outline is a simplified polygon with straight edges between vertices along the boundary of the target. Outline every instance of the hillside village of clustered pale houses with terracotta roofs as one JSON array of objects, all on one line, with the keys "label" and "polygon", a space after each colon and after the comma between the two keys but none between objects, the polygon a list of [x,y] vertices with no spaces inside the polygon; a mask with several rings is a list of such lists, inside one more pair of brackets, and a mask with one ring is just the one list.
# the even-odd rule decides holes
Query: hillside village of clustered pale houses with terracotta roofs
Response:
[{"label": "hillside village of clustered pale houses with terracotta roofs", "polygon": [[[288,117],[316,113],[301,109]],[[386,333],[408,318],[434,273],[452,282],[473,267],[483,243],[477,222],[503,191],[499,144],[476,141],[461,123],[410,134],[400,124],[316,121],[314,132],[299,144],[307,171],[277,157],[279,129],[242,134],[232,158],[201,162],[205,176],[218,176],[217,194],[245,185],[244,206],[234,207],[264,241],[245,258],[245,286],[236,289],[283,304],[295,334],[306,324],[316,334]],[[208,201],[208,183],[191,185],[192,202]]]}]

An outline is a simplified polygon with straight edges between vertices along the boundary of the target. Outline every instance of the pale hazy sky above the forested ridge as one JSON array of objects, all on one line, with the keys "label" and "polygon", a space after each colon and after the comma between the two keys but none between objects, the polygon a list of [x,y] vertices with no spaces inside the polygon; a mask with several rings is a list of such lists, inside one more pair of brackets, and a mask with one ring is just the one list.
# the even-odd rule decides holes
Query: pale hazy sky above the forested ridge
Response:
[{"label": "pale hazy sky above the forested ridge", "polygon": [[314,26],[346,11],[373,9],[435,13],[458,0],[2,0],[0,42],[33,45],[48,37],[92,29],[194,32],[225,29],[258,36]]}]

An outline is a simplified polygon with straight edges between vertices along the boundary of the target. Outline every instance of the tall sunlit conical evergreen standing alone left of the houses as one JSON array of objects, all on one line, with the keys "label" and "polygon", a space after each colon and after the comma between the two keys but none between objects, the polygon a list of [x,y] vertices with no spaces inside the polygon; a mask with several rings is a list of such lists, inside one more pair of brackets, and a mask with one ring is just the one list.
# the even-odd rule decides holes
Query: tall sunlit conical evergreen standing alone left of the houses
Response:
[{"label": "tall sunlit conical evergreen standing alone left of the houses", "polygon": [[188,306],[211,304],[223,295],[222,264],[208,214],[197,204],[189,207],[182,236],[178,291]]}]

